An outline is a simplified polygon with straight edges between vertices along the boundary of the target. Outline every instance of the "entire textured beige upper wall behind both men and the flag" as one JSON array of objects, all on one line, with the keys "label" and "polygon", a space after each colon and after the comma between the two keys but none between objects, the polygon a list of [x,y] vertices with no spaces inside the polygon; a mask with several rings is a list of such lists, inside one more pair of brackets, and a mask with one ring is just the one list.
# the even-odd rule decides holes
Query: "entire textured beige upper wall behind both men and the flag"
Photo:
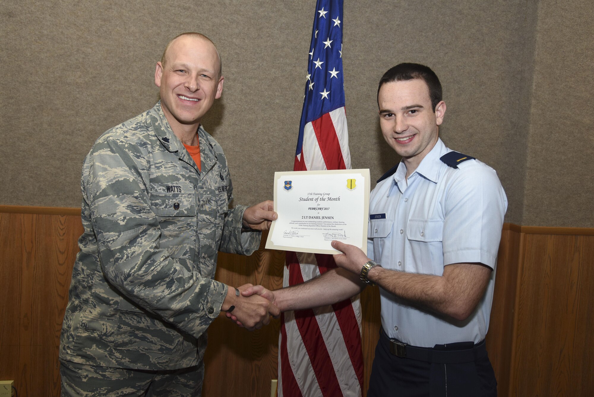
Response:
[{"label": "entire textured beige upper wall behind both men and the flag", "polygon": [[[105,130],[158,99],[168,40],[201,31],[225,90],[204,125],[223,145],[236,201],[271,197],[292,169],[315,1],[39,2],[0,5],[0,204],[79,206],[80,168]],[[594,226],[591,2],[345,1],[353,167],[398,159],[377,122],[377,81],[428,64],[448,105],[447,146],[497,169],[507,222]],[[570,166],[567,166],[567,163]]]}]

